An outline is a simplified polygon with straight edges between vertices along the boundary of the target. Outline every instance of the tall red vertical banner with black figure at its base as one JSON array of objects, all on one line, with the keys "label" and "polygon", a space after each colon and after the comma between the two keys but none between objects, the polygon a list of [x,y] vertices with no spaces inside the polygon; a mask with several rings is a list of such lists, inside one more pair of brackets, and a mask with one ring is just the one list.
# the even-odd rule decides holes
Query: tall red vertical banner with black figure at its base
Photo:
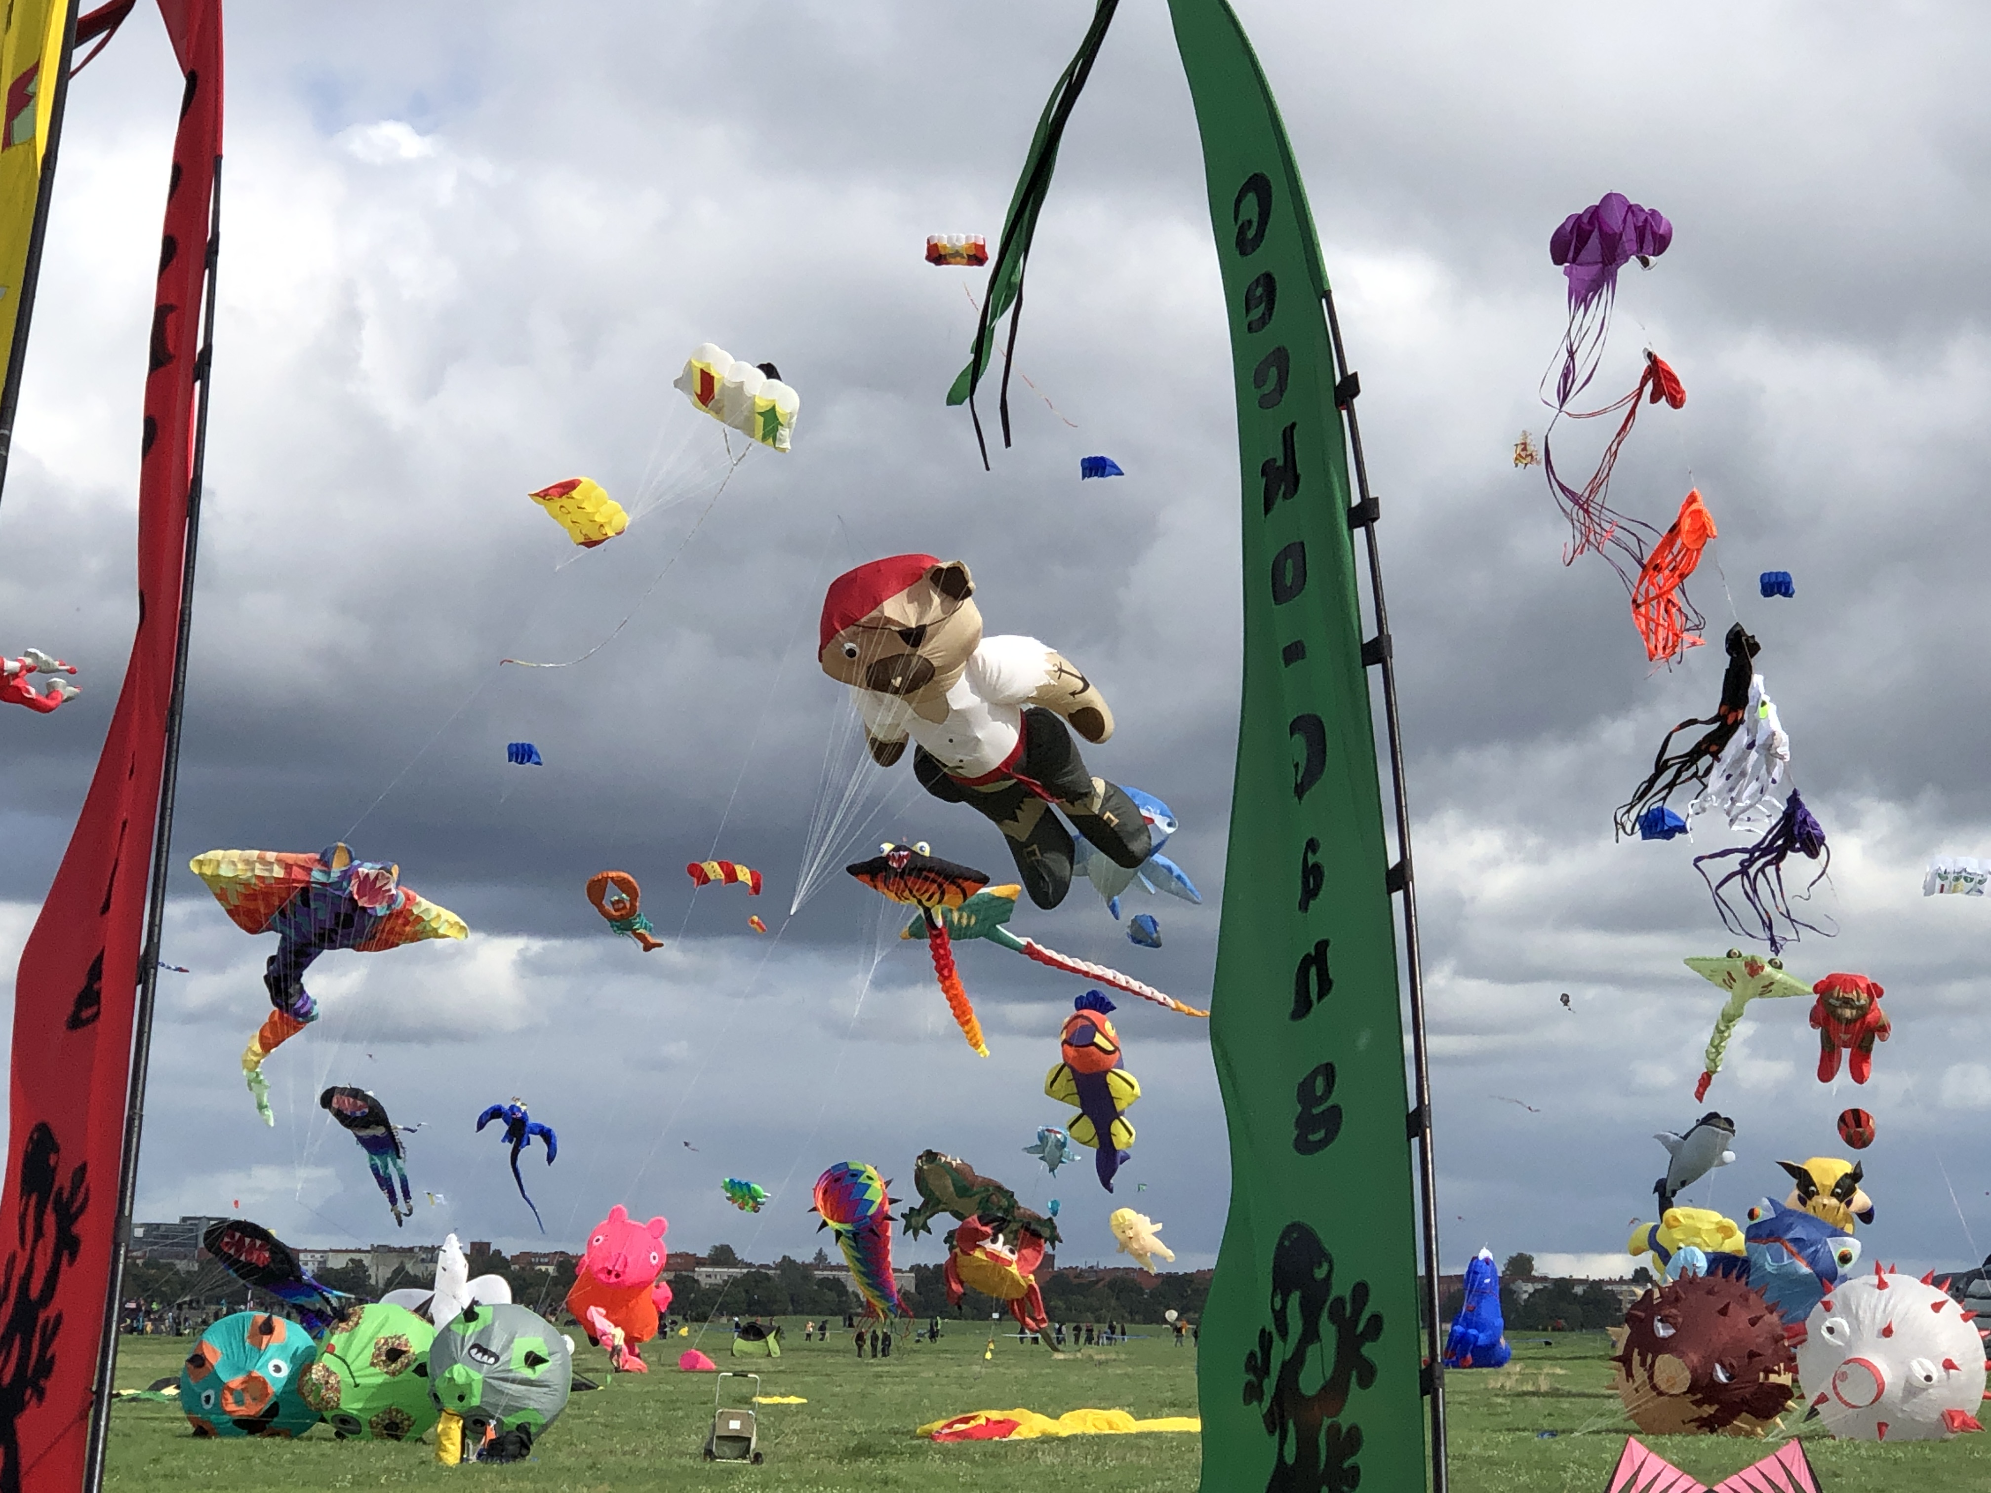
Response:
[{"label": "tall red vertical banner with black figure at its base", "polygon": [[0,1196],[0,1493],[84,1479],[117,1224],[131,1019],[179,637],[195,360],[221,161],[221,0],[159,0],[187,84],[145,374],[137,635],[123,691],[14,979]]}]

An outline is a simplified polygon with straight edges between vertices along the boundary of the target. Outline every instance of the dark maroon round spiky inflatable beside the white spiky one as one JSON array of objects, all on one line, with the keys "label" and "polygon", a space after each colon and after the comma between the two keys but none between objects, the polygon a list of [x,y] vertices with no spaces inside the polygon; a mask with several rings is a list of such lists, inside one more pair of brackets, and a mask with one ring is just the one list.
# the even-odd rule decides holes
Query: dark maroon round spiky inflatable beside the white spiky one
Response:
[{"label": "dark maroon round spiky inflatable beside the white spiky one", "polygon": [[1619,1399],[1647,1435],[1762,1435],[1790,1407],[1784,1324],[1732,1276],[1649,1290],[1611,1342]]}]

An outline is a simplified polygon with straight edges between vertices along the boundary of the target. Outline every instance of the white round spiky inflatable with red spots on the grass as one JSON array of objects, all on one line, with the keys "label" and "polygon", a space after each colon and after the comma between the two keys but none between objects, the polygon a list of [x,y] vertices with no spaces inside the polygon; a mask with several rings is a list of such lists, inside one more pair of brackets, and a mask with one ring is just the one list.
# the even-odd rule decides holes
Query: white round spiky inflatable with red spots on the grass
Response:
[{"label": "white round spiky inflatable with red spots on the grass", "polygon": [[1985,1346],[1931,1276],[1874,1266],[1812,1308],[1798,1376],[1826,1431],[1846,1441],[1947,1441],[1981,1431]]}]

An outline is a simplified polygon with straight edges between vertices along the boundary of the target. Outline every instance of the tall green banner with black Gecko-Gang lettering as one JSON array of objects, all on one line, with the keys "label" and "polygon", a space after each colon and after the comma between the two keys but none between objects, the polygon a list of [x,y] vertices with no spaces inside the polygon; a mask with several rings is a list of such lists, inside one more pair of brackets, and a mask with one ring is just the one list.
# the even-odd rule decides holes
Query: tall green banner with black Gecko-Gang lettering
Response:
[{"label": "tall green banner with black Gecko-Gang lettering", "polygon": [[1416,1198],[1382,788],[1326,271],[1250,42],[1169,0],[1230,311],[1244,699],[1211,1045],[1230,1212],[1203,1487],[1426,1487]]}]

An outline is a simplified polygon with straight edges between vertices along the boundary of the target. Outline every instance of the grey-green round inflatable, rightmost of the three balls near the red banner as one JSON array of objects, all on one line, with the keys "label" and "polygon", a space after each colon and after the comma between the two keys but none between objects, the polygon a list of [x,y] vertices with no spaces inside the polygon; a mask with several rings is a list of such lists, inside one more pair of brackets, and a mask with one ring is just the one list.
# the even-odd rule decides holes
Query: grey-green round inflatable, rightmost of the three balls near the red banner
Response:
[{"label": "grey-green round inflatable, rightmost of the three balls near the red banner", "polygon": [[472,1302],[428,1350],[428,1395],[462,1415],[466,1445],[482,1445],[486,1429],[540,1439],[567,1407],[571,1386],[567,1340],[512,1302]]}]

